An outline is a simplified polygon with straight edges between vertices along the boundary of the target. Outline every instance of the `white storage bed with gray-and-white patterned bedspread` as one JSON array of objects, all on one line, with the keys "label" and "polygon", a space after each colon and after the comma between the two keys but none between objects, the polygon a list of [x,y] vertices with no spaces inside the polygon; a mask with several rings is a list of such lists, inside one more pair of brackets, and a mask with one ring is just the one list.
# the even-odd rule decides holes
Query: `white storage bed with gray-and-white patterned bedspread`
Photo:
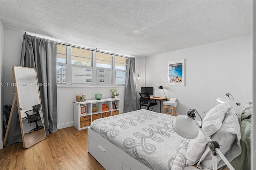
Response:
[{"label": "white storage bed with gray-and-white patterned bedspread", "polygon": [[[211,109],[214,110],[212,115],[216,115],[215,112],[220,109],[223,110],[223,105]],[[230,107],[226,108],[223,113],[227,113],[229,109]],[[172,115],[141,109],[97,119],[88,128],[88,152],[107,170],[198,170],[186,158],[188,146],[193,142],[182,138],[173,130],[174,118]],[[233,143],[240,140],[239,135],[235,136],[238,137],[234,138]],[[206,160],[209,159],[207,154],[204,147],[196,161],[199,162],[202,155]],[[198,167],[205,168],[201,163]]]}]

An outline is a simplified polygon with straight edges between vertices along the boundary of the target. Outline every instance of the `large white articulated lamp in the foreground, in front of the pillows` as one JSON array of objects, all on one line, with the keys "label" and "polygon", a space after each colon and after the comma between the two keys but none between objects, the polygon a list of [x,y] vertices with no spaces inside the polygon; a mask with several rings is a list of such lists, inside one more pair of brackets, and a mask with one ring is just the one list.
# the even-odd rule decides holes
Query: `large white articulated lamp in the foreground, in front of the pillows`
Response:
[{"label": "large white articulated lamp in the foreground, in front of the pillows", "polygon": [[225,162],[225,164],[228,166],[230,170],[235,170],[232,165],[228,162],[228,160],[225,158],[225,156],[220,152],[219,144],[216,141],[212,141],[211,138],[206,134],[206,132],[203,130],[202,125],[203,121],[201,119],[201,126],[199,123],[195,120],[196,114],[200,117],[199,113],[196,111],[196,109],[190,109],[187,113],[187,115],[178,115],[173,121],[172,121],[172,127],[175,130],[178,135],[187,138],[187,139],[194,139],[198,136],[199,130],[204,134],[205,138],[208,140],[208,147],[212,151],[212,167],[213,170],[217,170],[217,154],[219,154],[220,158]]}]

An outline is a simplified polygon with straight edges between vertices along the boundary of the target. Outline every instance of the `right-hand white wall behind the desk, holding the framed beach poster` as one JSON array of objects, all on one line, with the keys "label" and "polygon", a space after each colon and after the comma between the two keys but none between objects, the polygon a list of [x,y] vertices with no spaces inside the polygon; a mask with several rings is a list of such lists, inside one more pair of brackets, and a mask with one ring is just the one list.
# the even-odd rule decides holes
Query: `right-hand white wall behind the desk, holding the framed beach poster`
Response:
[{"label": "right-hand white wall behind the desk, holding the framed beach poster", "polygon": [[[167,63],[179,59],[185,59],[185,86],[168,86]],[[209,111],[226,93],[247,107],[252,101],[252,35],[146,57],[146,85],[162,97],[161,84],[166,97],[177,98],[178,115]]]}]

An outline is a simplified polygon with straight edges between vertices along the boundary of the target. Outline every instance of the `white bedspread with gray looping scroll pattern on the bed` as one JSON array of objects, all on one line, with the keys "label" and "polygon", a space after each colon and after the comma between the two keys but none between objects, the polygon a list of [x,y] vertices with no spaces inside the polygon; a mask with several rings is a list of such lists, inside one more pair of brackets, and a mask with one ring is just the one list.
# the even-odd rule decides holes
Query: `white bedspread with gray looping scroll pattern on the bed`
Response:
[{"label": "white bedspread with gray looping scroll pattern on the bed", "polygon": [[182,170],[189,140],[172,128],[175,117],[138,110],[96,119],[90,128],[154,170]]}]

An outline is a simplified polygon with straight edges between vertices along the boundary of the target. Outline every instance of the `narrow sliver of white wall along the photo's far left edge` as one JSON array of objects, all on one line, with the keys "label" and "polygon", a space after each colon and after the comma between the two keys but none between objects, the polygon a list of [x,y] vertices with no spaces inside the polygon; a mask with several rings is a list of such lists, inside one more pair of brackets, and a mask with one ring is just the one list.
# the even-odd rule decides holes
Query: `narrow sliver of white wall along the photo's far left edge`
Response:
[{"label": "narrow sliver of white wall along the photo's far left edge", "polygon": [[[2,84],[4,82],[3,80],[3,45],[4,45],[4,27],[2,25],[2,22],[0,22],[0,75],[1,75],[1,79],[0,79],[0,84]],[[2,113],[4,111],[4,98],[3,98],[3,91],[4,91],[4,87],[1,85],[0,87],[0,148],[2,149],[3,148],[3,125],[2,125],[2,122],[3,122],[3,117],[2,117]]]}]

